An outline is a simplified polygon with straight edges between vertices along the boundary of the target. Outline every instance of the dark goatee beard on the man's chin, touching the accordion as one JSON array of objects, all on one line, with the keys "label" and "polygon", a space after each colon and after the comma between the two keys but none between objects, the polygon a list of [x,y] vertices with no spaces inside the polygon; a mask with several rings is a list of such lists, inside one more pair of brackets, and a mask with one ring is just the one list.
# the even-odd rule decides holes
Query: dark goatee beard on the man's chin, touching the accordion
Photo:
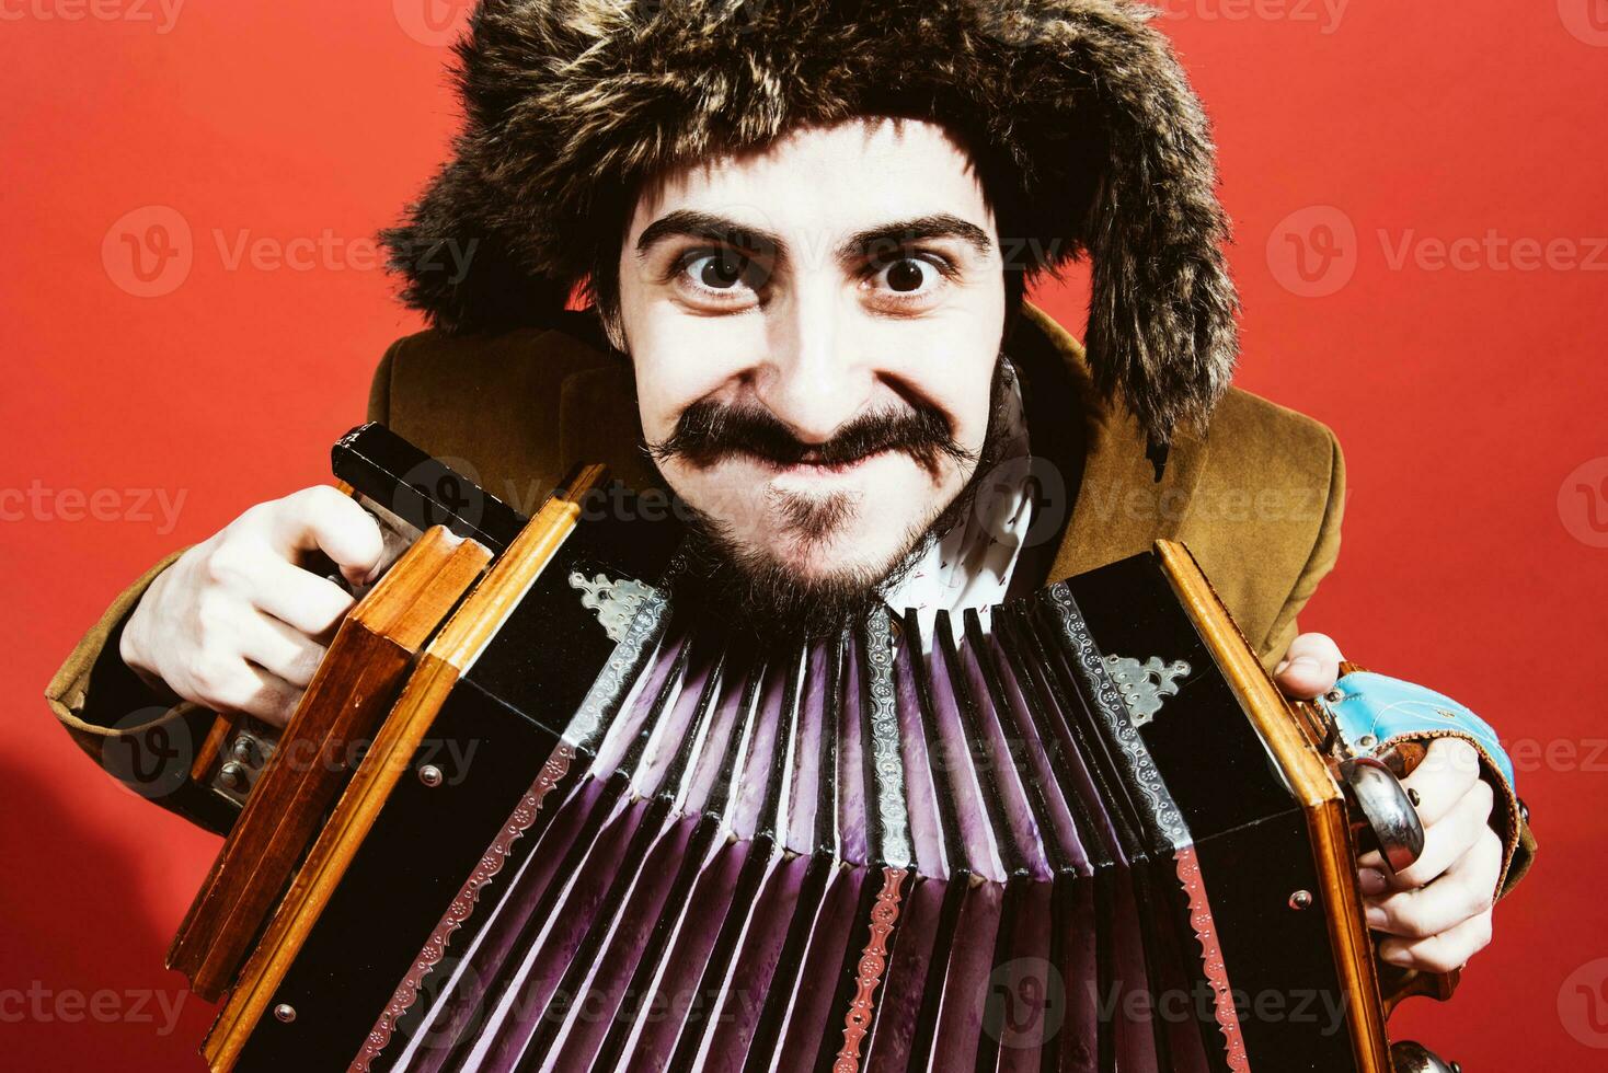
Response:
[{"label": "dark goatee beard on the man's chin, touching the accordion", "polygon": [[[994,369],[989,424],[976,466],[931,522],[918,520],[910,527],[900,543],[904,553],[891,564],[807,577],[780,562],[767,546],[736,543],[719,519],[691,509],[683,545],[687,570],[675,585],[677,602],[695,609],[701,620],[725,623],[735,636],[764,646],[833,636],[862,622],[881,604],[883,591],[907,577],[926,549],[973,509],[978,490],[1005,448],[1002,414],[1011,377],[1002,357]],[[788,501],[783,504],[788,538],[801,546],[825,543],[854,509],[849,496]]]}]

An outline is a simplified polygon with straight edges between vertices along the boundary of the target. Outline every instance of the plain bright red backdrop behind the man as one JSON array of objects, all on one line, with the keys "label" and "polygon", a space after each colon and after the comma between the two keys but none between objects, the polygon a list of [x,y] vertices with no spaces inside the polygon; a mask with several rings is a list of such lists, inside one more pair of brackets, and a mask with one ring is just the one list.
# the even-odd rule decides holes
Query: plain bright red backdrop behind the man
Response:
[{"label": "plain bright red backdrop behind the man", "polygon": [[[0,3],[0,485],[48,492],[0,525],[16,575],[0,665],[0,993],[50,996],[43,1017],[18,1020],[19,999],[0,994],[11,1068],[196,1065],[211,1009],[161,959],[219,843],[100,777],[40,689],[166,549],[325,480],[373,363],[418,326],[349,244],[396,218],[453,127],[425,3],[193,3],[166,32],[154,0]],[[1237,222],[1240,384],[1327,421],[1348,451],[1344,553],[1304,625],[1531,744],[1520,782],[1539,867],[1500,906],[1457,1001],[1410,1007],[1396,1031],[1470,1070],[1595,1067],[1608,1046],[1608,896],[1592,851],[1608,803],[1608,551],[1585,509],[1608,509],[1608,487],[1589,501],[1576,485],[1608,475],[1608,5],[1356,3],[1338,21],[1307,0],[1169,11]],[[114,225],[146,206],[191,230],[191,270],[159,297],[119,286],[130,262],[117,263]],[[1338,210],[1317,223],[1341,222],[1325,296],[1298,292],[1285,231],[1325,235],[1311,212],[1283,223],[1314,206]],[[122,230],[150,218],[137,222]],[[1589,263],[1569,263],[1566,246],[1531,270],[1436,268],[1417,246],[1423,259],[1393,260],[1404,238],[1492,230],[1573,243]],[[230,267],[241,231],[277,244],[328,233],[343,252],[306,270]],[[1081,329],[1076,286],[1040,297]],[[58,517],[72,511],[58,493],[101,488],[187,498],[172,532],[133,500],[111,520]],[[105,998],[100,1017],[58,1004],[101,989],[122,1017]],[[138,1017],[138,989],[183,996],[175,1030]]]}]

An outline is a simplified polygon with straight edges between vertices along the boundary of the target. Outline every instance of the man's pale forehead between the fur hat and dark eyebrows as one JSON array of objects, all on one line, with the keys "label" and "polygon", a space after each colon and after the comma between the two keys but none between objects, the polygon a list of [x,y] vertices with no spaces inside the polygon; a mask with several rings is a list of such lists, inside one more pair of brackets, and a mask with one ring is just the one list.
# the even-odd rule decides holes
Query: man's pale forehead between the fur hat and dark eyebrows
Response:
[{"label": "man's pale forehead between the fur hat and dark eyebrows", "polygon": [[629,239],[674,210],[719,214],[794,238],[939,212],[994,230],[971,156],[920,119],[801,127],[762,151],[677,169],[643,190]]}]

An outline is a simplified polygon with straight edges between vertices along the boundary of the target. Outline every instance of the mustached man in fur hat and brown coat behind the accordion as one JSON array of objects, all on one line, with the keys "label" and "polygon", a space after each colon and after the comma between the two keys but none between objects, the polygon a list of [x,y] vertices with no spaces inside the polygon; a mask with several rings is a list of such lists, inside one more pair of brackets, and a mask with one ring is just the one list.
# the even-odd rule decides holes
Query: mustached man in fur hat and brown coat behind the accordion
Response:
[{"label": "mustached man in fur hat and brown coat behind the accordion", "polygon": [[[1211,143],[1145,18],[487,0],[457,157],[388,236],[436,329],[391,349],[368,416],[524,506],[574,461],[662,480],[728,606],[793,631],[872,599],[986,606],[1180,538],[1286,692],[1317,696],[1339,652],[1296,614],[1335,562],[1341,456],[1227,387]],[[1023,300],[1082,254],[1087,352]],[[330,488],[259,504],[113,604],[56,713],[108,765],[199,740],[207,710],[281,724],[352,602],[315,551],[349,581],[386,565]],[[227,829],[185,766],[161,803]],[[1407,784],[1426,851],[1389,879],[1364,859],[1368,919],[1386,961],[1447,970],[1532,843],[1457,739]]]}]

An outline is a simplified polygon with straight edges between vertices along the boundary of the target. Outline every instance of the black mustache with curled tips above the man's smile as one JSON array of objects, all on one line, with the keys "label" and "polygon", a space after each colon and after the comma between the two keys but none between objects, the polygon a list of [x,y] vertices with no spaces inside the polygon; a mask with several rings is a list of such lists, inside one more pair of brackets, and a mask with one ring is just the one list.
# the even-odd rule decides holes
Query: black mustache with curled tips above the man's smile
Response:
[{"label": "black mustache with curled tips above the man's smile", "polygon": [[682,411],[669,437],[648,445],[656,463],[682,458],[698,467],[732,455],[754,455],[777,466],[847,466],[880,451],[904,451],[928,471],[936,471],[941,458],[978,461],[978,453],[957,443],[949,419],[931,406],[865,413],[830,440],[804,443],[769,410],[704,398]]}]

